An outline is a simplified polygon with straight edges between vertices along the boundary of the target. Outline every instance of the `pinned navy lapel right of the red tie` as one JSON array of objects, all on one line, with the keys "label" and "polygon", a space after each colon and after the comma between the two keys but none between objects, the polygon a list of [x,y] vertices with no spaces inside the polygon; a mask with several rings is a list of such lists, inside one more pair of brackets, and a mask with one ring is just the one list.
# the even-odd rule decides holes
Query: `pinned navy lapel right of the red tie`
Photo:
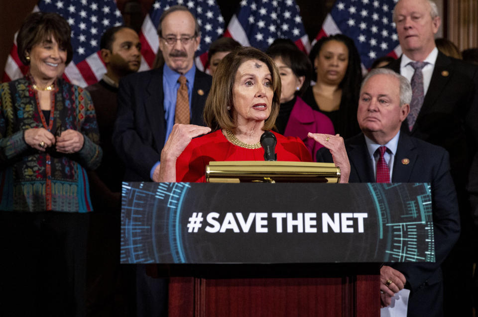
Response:
[{"label": "pinned navy lapel right of the red tie", "polygon": [[397,152],[393,160],[392,183],[408,183],[415,163],[417,151],[413,140],[405,133],[400,133]]}]

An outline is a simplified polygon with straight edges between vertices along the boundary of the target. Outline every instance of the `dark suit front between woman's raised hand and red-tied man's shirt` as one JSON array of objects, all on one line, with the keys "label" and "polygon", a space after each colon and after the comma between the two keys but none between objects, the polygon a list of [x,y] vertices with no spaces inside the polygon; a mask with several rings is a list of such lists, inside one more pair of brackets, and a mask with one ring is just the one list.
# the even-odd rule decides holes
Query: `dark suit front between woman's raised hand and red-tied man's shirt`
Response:
[{"label": "dark suit front between woman's raised hand and red-tied man's shirt", "polygon": [[[347,152],[349,154],[351,173],[351,182],[372,183],[375,182],[373,178],[373,167],[371,159],[368,154],[365,137],[359,134],[347,142]],[[355,179],[355,178],[358,179]]]}]

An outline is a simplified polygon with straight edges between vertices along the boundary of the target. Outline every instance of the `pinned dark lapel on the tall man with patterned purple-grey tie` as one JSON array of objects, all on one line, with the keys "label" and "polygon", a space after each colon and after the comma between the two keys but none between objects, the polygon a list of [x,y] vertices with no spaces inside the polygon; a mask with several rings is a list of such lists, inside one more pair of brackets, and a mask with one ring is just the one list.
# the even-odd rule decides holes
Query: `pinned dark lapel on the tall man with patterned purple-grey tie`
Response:
[{"label": "pinned dark lapel on the tall man with patterned purple-grey tie", "polygon": [[[427,110],[435,104],[437,98],[444,90],[445,85],[447,85],[448,81],[452,77],[451,75],[453,70],[450,68],[450,63],[451,61],[448,57],[438,52],[430,86],[428,87],[425,100],[423,101],[423,105],[418,113],[417,120],[413,125],[411,133],[413,133],[417,129],[417,126],[420,125],[420,118],[422,118],[426,114]],[[444,74],[446,74],[446,76]]]}]

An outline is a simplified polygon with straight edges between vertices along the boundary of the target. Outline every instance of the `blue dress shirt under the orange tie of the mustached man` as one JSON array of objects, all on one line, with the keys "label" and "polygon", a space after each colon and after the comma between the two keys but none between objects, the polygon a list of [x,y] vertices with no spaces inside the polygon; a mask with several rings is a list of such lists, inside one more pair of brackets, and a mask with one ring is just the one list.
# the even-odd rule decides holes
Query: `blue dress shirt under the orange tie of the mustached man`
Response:
[{"label": "blue dress shirt under the orange tie of the mustached man", "polygon": [[[189,96],[189,113],[191,114],[191,99],[193,97],[193,86],[194,86],[194,76],[196,75],[196,65],[193,63],[193,67],[184,74],[186,76],[188,85],[188,96]],[[176,73],[168,65],[164,64],[163,66],[163,93],[164,93],[164,119],[166,120],[166,138],[164,143],[168,140],[169,134],[173,130],[174,125],[174,115],[176,112],[176,99],[178,96],[178,89],[181,84],[179,84],[179,76],[181,74]],[[149,172],[149,177],[153,179],[153,173],[156,167],[159,165],[159,161],[153,165],[153,168]]]}]

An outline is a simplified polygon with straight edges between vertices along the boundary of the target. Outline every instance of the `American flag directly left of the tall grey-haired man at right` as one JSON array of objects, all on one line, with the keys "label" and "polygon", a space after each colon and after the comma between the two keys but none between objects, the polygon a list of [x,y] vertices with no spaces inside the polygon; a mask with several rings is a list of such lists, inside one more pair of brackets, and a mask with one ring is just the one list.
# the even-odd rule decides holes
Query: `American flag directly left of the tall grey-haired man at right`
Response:
[{"label": "American flag directly left of the tall grey-haired man at right", "polygon": [[327,15],[316,39],[343,33],[352,38],[362,64],[370,68],[373,61],[402,53],[393,23],[392,12],[397,0],[337,0]]}]

